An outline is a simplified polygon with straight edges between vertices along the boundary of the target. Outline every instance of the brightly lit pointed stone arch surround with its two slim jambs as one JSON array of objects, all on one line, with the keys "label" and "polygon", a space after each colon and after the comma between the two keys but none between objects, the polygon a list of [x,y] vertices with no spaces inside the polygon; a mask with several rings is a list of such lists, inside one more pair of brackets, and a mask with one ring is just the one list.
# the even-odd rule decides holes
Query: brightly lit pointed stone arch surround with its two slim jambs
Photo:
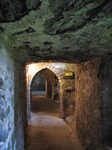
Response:
[{"label": "brightly lit pointed stone arch surround with its two slim jambs", "polygon": [[[57,70],[51,65],[47,65],[45,63],[39,63],[38,64],[31,64],[27,66],[27,117],[28,120],[30,119],[30,101],[31,101],[31,83],[33,77],[39,73],[40,71],[47,69],[51,71],[54,75],[57,76],[59,84],[60,84],[60,116],[63,116],[63,104],[62,104],[62,76],[60,72],[57,72]],[[31,69],[32,68],[32,69]]]}]

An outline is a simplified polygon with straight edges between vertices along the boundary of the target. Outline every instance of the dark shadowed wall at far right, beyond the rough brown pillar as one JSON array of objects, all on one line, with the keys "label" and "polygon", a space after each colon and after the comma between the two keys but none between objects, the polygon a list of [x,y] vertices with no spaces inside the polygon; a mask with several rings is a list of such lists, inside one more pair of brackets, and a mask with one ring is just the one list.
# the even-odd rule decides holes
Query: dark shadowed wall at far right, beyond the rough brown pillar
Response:
[{"label": "dark shadowed wall at far right, beyond the rough brown pillar", "polygon": [[112,57],[102,62],[102,142],[112,146]]}]

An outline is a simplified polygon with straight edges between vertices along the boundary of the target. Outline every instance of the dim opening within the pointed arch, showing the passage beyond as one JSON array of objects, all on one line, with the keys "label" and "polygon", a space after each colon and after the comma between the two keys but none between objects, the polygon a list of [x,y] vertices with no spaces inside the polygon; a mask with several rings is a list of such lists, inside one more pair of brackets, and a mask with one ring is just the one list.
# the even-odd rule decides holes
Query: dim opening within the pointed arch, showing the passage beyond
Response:
[{"label": "dim opening within the pointed arch, showing the passage beyond", "polygon": [[[54,112],[57,109],[57,106],[55,107],[55,103],[57,102],[56,105],[58,105],[58,112],[60,112],[59,94],[60,94],[60,85],[56,74],[54,74],[54,72],[52,72],[47,68],[40,70],[33,76],[31,81],[30,110],[31,111],[36,111],[37,109],[38,111],[39,110],[44,111],[44,109],[47,110],[47,108],[45,107],[47,107],[47,104],[49,102],[46,103],[45,99],[47,100],[49,99],[51,104],[49,103],[48,105],[51,105],[52,111]],[[51,110],[50,108],[48,109]]]}]

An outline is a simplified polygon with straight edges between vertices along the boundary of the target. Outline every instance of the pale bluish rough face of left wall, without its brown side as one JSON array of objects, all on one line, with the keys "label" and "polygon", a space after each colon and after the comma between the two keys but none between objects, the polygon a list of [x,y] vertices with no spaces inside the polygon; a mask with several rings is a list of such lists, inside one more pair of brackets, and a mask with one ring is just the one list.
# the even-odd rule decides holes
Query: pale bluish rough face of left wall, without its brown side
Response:
[{"label": "pale bluish rough face of left wall, without its brown side", "polygon": [[14,61],[0,43],[0,149],[16,149],[14,129]]}]

